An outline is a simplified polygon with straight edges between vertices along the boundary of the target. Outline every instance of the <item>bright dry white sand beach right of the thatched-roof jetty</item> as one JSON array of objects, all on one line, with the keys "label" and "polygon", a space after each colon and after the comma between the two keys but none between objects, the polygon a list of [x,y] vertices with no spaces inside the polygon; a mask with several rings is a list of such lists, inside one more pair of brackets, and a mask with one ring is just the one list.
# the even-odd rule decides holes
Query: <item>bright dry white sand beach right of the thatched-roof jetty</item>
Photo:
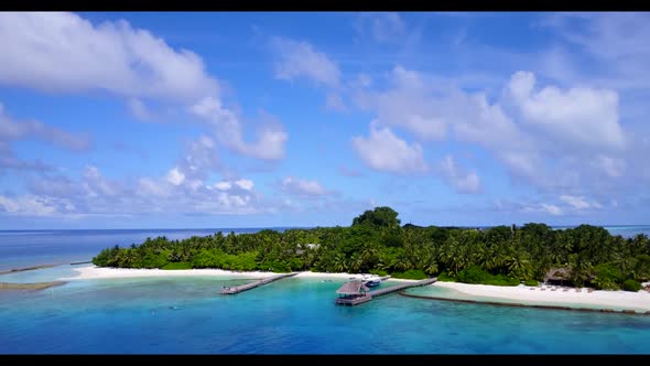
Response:
[{"label": "bright dry white sand beach right of the thatched-roof jetty", "polygon": [[576,292],[575,289],[563,291],[563,289],[560,288],[555,291],[551,291],[550,287],[548,287],[545,291],[542,291],[540,288],[533,288],[534,290],[531,290],[531,288],[527,286],[501,287],[457,282],[435,282],[431,284],[431,287],[453,289],[463,294],[476,297],[475,300],[477,301],[495,301],[502,299],[505,302],[521,302],[523,304],[650,311],[650,292],[648,291],[588,292],[587,289],[582,289],[581,292]]}]

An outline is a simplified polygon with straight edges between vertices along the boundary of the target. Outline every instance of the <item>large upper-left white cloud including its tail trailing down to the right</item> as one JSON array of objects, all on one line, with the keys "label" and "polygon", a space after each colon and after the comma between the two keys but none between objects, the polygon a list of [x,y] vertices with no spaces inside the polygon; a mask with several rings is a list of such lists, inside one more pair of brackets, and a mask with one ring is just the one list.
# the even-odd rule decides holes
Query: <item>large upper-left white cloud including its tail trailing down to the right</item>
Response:
[{"label": "large upper-left white cloud including its tail trailing down to the right", "polygon": [[[259,129],[258,141],[246,143],[243,125],[223,105],[219,83],[202,57],[123,20],[93,24],[65,12],[3,13],[0,43],[6,44],[0,84],[48,93],[108,92],[124,98],[141,120],[151,120],[148,100],[181,105],[204,120],[219,121],[213,130],[227,148],[256,159],[284,157],[288,134],[279,122]],[[42,133],[75,143],[55,130]]]}]

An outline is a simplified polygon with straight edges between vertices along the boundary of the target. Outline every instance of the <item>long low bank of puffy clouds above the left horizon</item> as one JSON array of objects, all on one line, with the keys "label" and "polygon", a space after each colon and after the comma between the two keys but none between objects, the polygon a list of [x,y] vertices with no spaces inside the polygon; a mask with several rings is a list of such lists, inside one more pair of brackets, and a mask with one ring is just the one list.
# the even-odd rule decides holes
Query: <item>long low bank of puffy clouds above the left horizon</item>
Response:
[{"label": "long low bank of puffy clouds above the left horizon", "polygon": [[30,193],[0,195],[0,215],[84,217],[91,215],[143,215],[163,212],[240,215],[271,208],[253,182],[240,179],[206,185],[196,179],[181,179],[177,168],[163,176],[141,176],[116,181],[96,166],[86,166],[82,176],[46,176],[32,180]]}]

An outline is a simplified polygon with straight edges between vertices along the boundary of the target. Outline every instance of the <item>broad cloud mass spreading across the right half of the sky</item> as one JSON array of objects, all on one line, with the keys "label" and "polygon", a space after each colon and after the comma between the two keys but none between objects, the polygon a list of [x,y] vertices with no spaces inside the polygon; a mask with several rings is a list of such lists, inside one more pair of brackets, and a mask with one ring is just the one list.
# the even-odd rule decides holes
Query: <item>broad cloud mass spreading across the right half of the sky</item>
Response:
[{"label": "broad cloud mass spreading across the right half of the sky", "polygon": [[543,192],[604,192],[629,171],[631,157],[624,157],[631,140],[620,125],[614,90],[537,86],[532,73],[518,72],[490,98],[487,90],[467,92],[453,80],[399,65],[387,82],[353,90],[356,106],[375,115],[376,128],[408,131],[414,146],[449,138],[478,144],[517,184]]}]

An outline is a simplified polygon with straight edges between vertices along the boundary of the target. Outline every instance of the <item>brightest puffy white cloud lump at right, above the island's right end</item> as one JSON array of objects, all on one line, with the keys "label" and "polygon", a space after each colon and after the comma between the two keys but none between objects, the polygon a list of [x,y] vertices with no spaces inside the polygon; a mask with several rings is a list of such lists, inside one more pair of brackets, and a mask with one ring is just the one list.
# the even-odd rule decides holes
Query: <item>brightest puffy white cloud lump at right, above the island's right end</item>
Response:
[{"label": "brightest puffy white cloud lump at right, above the island's right end", "polygon": [[512,75],[509,92],[523,120],[556,139],[597,148],[620,149],[625,138],[618,123],[618,95],[613,90],[546,86],[534,92],[529,72]]}]

